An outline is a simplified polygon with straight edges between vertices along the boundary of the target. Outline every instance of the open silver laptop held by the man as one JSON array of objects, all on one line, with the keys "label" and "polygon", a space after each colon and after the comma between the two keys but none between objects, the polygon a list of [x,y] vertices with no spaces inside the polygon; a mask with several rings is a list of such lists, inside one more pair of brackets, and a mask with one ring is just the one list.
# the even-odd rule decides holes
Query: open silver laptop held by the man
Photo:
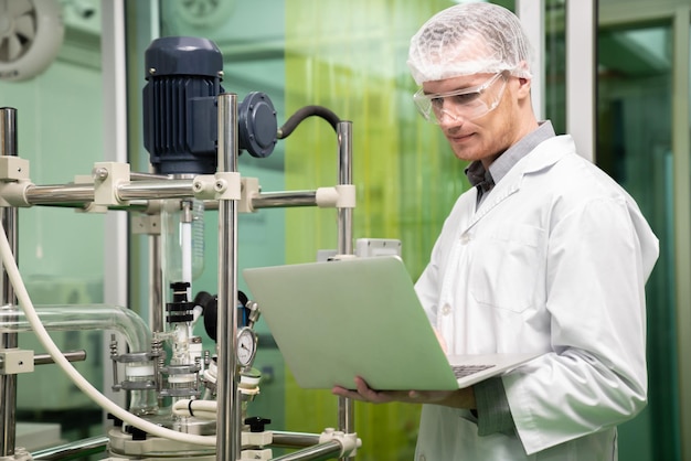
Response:
[{"label": "open silver laptop held by the man", "polygon": [[244,269],[286,364],[304,388],[470,386],[538,356],[447,356],[395,256]]}]

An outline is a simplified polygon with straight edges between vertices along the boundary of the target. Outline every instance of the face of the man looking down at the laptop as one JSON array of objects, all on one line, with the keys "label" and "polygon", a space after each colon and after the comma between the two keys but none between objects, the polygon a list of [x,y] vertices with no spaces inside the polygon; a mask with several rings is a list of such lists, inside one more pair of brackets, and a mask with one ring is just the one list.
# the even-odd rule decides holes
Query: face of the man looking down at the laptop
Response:
[{"label": "face of the man looking down at the laptop", "polygon": [[454,95],[466,88],[482,88],[477,98],[481,98],[490,110],[479,116],[478,110],[471,109],[471,103],[464,99],[465,95],[432,99],[436,121],[458,159],[479,160],[488,168],[520,139],[520,110],[513,88],[517,81],[509,75],[475,74],[423,84],[423,92],[427,95]]}]

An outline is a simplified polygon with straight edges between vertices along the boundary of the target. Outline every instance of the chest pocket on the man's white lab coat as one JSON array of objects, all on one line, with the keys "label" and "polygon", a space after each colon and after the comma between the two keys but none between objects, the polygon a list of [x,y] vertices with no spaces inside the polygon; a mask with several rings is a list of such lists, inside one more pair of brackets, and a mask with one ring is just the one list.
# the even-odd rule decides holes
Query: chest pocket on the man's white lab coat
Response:
[{"label": "chest pocket on the man's white lab coat", "polygon": [[476,233],[470,292],[479,303],[512,312],[538,304],[545,232],[524,224]]}]

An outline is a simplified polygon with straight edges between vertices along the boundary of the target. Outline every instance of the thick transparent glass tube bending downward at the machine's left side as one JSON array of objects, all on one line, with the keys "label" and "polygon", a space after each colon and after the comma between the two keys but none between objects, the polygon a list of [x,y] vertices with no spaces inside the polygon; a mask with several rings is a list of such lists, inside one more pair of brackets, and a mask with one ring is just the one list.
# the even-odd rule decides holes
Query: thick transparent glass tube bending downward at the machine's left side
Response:
[{"label": "thick transparent glass tube bending downward at the machine's left side", "polygon": [[[130,309],[108,304],[36,305],[47,331],[113,330],[125,336],[130,352],[148,352],[151,333]],[[32,331],[24,311],[15,305],[0,307],[0,333]]]}]

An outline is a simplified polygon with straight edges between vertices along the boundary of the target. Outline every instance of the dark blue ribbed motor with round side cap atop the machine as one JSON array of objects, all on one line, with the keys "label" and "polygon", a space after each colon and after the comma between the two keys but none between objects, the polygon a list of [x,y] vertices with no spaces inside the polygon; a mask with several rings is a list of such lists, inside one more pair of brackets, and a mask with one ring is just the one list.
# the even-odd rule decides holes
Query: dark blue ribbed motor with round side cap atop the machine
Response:
[{"label": "dark blue ribbed motor with round side cap atop the machine", "polygon": [[[217,107],[223,55],[210,40],[157,39],[145,53],[143,144],[158,174],[216,172]],[[238,105],[240,149],[268,157],[277,141],[276,110],[262,93]]]}]

